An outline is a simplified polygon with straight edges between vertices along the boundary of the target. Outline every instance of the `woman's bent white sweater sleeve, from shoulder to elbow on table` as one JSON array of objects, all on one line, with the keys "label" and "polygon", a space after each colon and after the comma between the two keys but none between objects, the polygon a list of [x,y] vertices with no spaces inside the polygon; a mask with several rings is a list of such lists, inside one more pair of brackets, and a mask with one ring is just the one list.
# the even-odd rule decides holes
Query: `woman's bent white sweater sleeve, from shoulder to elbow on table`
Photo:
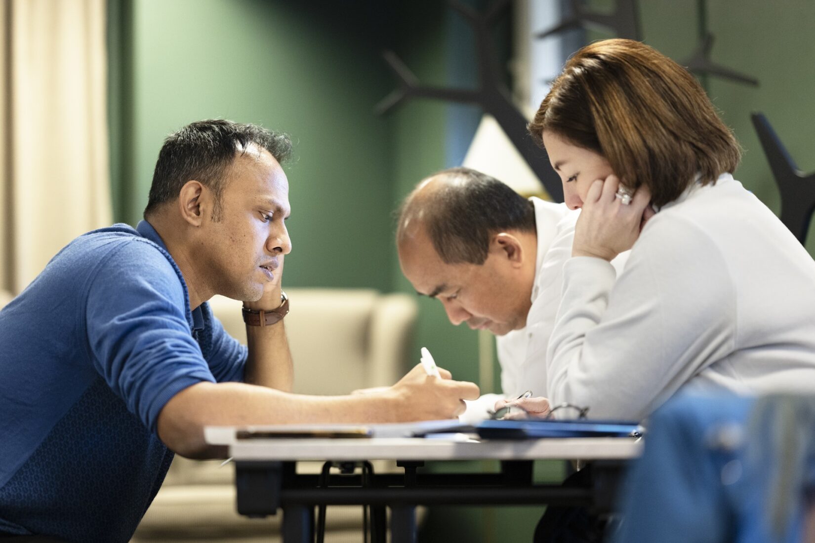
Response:
[{"label": "woman's bent white sweater sleeve, from shoulder to elbow on table", "polygon": [[735,295],[727,263],[703,231],[676,218],[652,219],[616,282],[607,261],[566,262],[547,355],[553,405],[588,406],[591,418],[639,420],[732,353]]}]

